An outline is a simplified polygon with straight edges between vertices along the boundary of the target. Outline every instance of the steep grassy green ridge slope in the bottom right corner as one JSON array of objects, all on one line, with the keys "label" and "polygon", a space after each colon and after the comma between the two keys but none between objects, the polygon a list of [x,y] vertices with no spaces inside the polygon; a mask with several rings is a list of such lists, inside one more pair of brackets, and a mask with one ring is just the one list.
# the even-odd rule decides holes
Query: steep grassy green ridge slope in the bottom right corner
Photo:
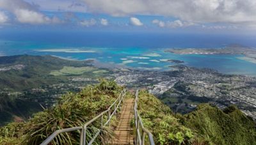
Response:
[{"label": "steep grassy green ridge slope in the bottom right corner", "polygon": [[198,139],[213,144],[256,144],[256,124],[236,106],[223,111],[201,104],[184,116],[184,125],[196,130]]}]

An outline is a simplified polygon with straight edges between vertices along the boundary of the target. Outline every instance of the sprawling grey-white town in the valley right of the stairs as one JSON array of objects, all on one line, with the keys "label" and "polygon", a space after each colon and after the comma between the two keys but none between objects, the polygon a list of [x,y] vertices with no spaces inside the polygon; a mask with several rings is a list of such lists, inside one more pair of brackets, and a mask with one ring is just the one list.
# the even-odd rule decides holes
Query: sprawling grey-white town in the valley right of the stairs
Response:
[{"label": "sprawling grey-white town in the valley right of the stairs", "polygon": [[[116,71],[115,80],[120,85],[147,88],[177,112],[180,112],[177,108],[181,108],[185,110],[181,113],[188,113],[202,102],[221,109],[236,104],[241,111],[256,119],[256,78],[186,66],[175,66],[175,69],[166,72]],[[168,102],[170,100],[174,101]]]}]

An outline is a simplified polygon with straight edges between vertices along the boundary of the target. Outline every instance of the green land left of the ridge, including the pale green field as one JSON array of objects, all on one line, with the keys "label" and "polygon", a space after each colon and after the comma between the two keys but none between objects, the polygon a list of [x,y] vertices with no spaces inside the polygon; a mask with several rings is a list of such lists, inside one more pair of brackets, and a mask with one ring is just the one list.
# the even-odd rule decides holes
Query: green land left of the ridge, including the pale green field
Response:
[{"label": "green land left of the ridge, including the pale green field", "polygon": [[[51,56],[0,57],[0,69],[24,66],[22,69],[0,71],[0,126],[15,121],[15,118],[26,120],[33,113],[42,111],[40,104],[51,106],[56,101],[56,96],[71,90],[77,92],[79,86],[90,83],[71,81],[73,78],[95,80],[108,74],[105,69],[92,67],[89,62]],[[33,91],[38,88],[42,91]]]}]

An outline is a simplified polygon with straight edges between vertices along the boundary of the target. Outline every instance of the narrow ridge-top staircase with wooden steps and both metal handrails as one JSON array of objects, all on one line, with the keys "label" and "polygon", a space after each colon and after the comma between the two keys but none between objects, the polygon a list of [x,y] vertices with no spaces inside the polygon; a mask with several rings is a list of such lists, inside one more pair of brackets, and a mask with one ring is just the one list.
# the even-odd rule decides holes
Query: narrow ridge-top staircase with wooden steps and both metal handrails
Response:
[{"label": "narrow ridge-top staircase with wooden steps and both metal handrails", "polygon": [[[125,134],[129,135],[127,132],[129,132],[129,130],[130,130],[130,132],[133,130],[133,127],[131,127],[131,125],[129,125],[129,122],[131,122],[132,118],[134,118],[134,123],[135,123],[134,129],[136,130],[135,131],[136,134],[127,136],[127,141],[125,140],[126,138],[125,139],[122,138],[122,137],[124,137],[124,135],[117,135],[116,141],[114,141],[114,142],[106,141],[106,142],[108,142],[108,144],[132,144],[132,143],[134,143],[134,144],[143,145],[143,144],[145,144],[146,136],[148,136],[147,137],[148,144],[154,145],[153,135],[147,130],[147,128],[145,128],[143,126],[143,122],[141,120],[140,114],[137,109],[138,108],[138,92],[139,91],[137,90],[136,95],[135,95],[135,100],[128,99],[129,101],[124,102],[125,94],[126,94],[126,90],[124,89],[120,93],[118,98],[115,100],[115,102],[113,102],[113,104],[111,104],[111,106],[106,111],[103,111],[98,116],[95,116],[95,118],[86,122],[81,127],[72,127],[72,128],[56,130],[47,139],[45,139],[45,141],[42,142],[41,145],[49,144],[59,134],[74,132],[77,130],[80,130],[80,132],[81,132],[80,133],[80,144],[81,145],[93,144],[93,142],[95,142],[95,139],[97,139],[97,137],[100,134],[100,129],[97,129],[97,132],[93,135],[92,139],[90,139],[90,140],[86,139],[86,130],[88,129],[89,125],[92,125],[92,123],[96,122],[96,121],[100,121],[100,127],[106,127],[106,126],[111,125],[111,119],[113,118],[113,116],[116,116],[116,114],[118,114],[118,111],[122,110],[122,106],[124,106],[124,111],[121,111],[122,113],[121,113],[121,117],[119,120],[119,125],[122,125],[122,123],[125,123],[125,127],[129,127],[129,128],[127,128]],[[133,112],[132,111],[133,104],[134,104],[134,113],[132,113]],[[128,107],[128,109],[125,109],[125,107]],[[128,118],[122,118],[122,115],[125,116],[127,114],[129,114]],[[104,118],[107,118],[107,120],[104,120]],[[126,121],[125,121],[125,119],[126,119]],[[121,131],[121,130],[119,130],[119,131]],[[118,127],[114,130],[114,132],[115,133],[118,132]],[[121,134],[121,132],[120,132],[120,134]],[[133,136],[135,136],[135,139]],[[134,140],[134,141],[132,142],[132,140]],[[122,141],[122,143],[120,141]]]}]

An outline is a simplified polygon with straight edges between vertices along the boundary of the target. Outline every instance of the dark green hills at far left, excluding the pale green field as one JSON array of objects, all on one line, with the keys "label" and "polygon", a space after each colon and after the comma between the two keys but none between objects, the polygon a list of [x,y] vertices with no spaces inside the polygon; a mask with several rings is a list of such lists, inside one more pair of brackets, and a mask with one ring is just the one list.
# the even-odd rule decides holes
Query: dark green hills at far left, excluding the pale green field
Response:
[{"label": "dark green hills at far left, excluding the pale green field", "polygon": [[0,90],[28,90],[42,85],[52,85],[68,81],[65,76],[50,75],[53,70],[63,69],[65,66],[86,67],[88,61],[70,61],[51,56],[16,55],[0,57],[0,67],[24,65],[24,69],[10,70],[8,73],[0,71]]}]

